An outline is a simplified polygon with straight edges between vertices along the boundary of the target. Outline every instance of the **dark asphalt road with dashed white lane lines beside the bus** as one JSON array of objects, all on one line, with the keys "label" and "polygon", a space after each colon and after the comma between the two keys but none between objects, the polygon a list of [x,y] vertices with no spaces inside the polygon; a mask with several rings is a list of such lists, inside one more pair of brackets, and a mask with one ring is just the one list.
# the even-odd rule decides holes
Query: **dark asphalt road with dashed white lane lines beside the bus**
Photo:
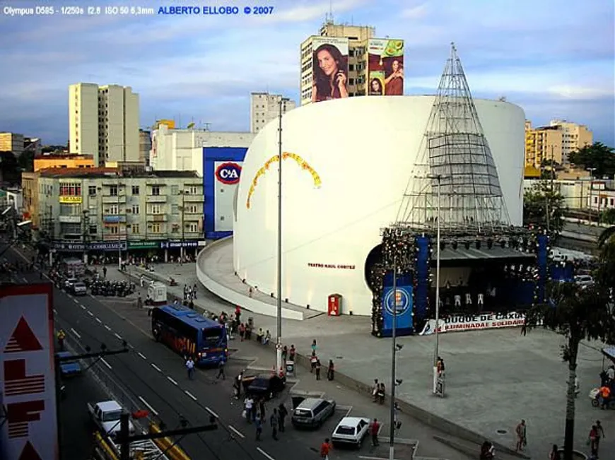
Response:
[{"label": "dark asphalt road with dashed white lane lines beside the bus", "polygon": [[[18,260],[16,252],[10,253],[5,254],[7,259]],[[31,283],[40,281],[36,273],[25,273],[22,278],[21,281]],[[336,414],[329,422],[332,426],[318,432],[299,432],[289,427],[279,441],[271,438],[269,427],[265,426],[262,441],[257,442],[254,427],[241,418],[240,401],[232,398],[230,378],[216,381],[215,370],[203,370],[189,380],[179,356],[90,295],[72,297],[55,289],[54,308],[57,326],[78,344],[77,348],[90,346],[97,350],[105,343],[107,348],[117,349],[122,348],[122,341],[129,343],[129,353],[109,356],[94,365],[103,375],[105,385],[129,411],[148,409],[170,428],[179,427],[180,418],[196,426],[209,424],[211,413],[218,417],[218,430],[189,435],[178,442],[193,459],[314,459],[325,433],[330,433],[329,428],[344,415]],[[231,360],[226,369],[229,377],[241,367],[241,362]],[[95,396],[98,395],[84,392],[71,404],[71,411],[86,413],[86,399]],[[277,405],[279,400],[274,403]],[[269,403],[269,413],[274,403]],[[83,409],[79,407],[82,404]],[[346,456],[356,458],[357,454],[339,453],[336,458]]]}]

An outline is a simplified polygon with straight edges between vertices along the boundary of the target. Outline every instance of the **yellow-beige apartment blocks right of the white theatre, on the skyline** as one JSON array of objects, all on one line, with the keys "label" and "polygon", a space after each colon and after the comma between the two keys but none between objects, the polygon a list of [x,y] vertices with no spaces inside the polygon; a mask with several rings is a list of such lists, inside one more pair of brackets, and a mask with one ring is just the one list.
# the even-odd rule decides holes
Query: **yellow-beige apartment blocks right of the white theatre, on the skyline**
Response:
[{"label": "yellow-beige apartment blocks right of the white theatre, on the skyline", "polygon": [[562,166],[570,165],[568,156],[593,141],[592,131],[587,126],[553,120],[549,126],[532,127],[525,122],[525,165],[538,169],[551,160]]}]

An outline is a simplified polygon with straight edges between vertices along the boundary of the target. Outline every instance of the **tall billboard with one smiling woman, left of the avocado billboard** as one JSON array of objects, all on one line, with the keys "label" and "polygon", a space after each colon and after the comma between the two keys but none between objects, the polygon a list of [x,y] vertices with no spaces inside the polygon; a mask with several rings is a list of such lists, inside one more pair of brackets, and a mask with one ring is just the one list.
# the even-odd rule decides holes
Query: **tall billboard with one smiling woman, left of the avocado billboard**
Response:
[{"label": "tall billboard with one smiling woman, left of the avocado billboard", "polygon": [[312,38],[312,102],[348,98],[348,39]]}]

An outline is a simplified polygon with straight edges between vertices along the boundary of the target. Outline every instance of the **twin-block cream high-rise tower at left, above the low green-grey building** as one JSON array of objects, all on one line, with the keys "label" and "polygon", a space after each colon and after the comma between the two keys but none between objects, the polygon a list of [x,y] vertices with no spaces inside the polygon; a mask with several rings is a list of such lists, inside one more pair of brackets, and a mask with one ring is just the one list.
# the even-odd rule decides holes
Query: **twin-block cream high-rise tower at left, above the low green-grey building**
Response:
[{"label": "twin-block cream high-rise tower at left, above the low green-grey building", "polygon": [[69,86],[71,153],[93,155],[96,165],[139,161],[139,95],[129,86]]}]

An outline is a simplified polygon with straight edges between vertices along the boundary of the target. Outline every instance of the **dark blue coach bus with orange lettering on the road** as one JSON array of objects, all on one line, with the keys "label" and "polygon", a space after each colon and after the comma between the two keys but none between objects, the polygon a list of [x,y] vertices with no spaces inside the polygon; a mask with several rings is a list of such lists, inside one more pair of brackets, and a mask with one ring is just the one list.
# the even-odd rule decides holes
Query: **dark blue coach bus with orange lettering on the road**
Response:
[{"label": "dark blue coach bus with orange lettering on the road", "polygon": [[156,307],[151,314],[151,331],[175,353],[191,356],[197,365],[217,365],[228,358],[224,326],[182,305]]}]

